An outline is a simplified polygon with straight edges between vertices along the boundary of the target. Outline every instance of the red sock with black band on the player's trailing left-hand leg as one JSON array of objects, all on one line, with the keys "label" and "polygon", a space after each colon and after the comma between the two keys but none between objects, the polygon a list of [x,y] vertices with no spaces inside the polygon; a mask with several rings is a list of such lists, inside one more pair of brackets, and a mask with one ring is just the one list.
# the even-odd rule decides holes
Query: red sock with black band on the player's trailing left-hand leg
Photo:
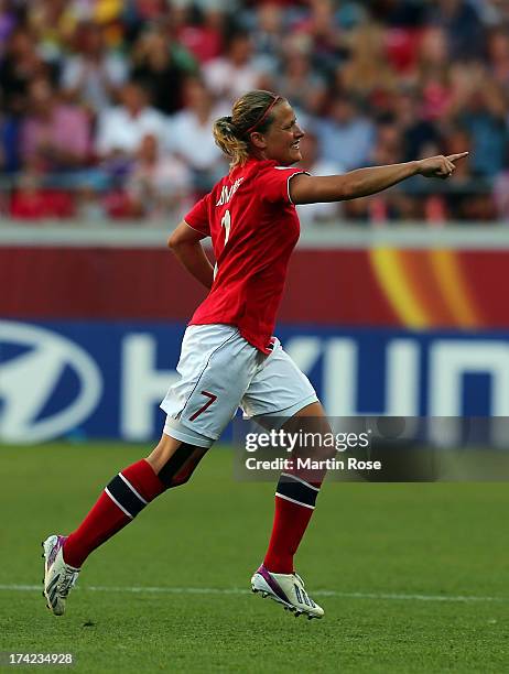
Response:
[{"label": "red sock with black band on the player's trailing left-hand leg", "polygon": [[78,529],[66,539],[63,550],[66,564],[79,568],[96,547],[129,524],[165,489],[145,459],[124,468],[109,482]]}]

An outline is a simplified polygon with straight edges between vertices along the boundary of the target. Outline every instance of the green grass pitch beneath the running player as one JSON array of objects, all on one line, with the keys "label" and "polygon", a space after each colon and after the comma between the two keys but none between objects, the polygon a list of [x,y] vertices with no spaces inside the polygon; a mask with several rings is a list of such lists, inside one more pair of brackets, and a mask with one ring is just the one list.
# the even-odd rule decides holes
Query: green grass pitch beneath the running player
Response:
[{"label": "green grass pitch beneath the running player", "polygon": [[0,448],[0,651],[72,652],[90,673],[508,670],[506,483],[326,483],[297,557],[326,611],[307,621],[247,591],[273,485],[236,481],[224,447],[88,559],[55,618],[31,587],[40,542],[144,454]]}]

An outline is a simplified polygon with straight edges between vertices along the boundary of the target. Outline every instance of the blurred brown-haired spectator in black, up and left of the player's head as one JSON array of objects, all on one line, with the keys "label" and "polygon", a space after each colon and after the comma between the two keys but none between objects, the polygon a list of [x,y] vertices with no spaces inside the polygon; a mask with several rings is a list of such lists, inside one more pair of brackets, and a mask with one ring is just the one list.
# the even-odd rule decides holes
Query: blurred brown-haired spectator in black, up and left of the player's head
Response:
[{"label": "blurred brown-haired spectator in black, up and left of the player's head", "polygon": [[182,87],[189,72],[172,54],[172,45],[162,30],[141,34],[132,54],[132,79],[143,85],[154,108],[165,115],[182,108]]}]

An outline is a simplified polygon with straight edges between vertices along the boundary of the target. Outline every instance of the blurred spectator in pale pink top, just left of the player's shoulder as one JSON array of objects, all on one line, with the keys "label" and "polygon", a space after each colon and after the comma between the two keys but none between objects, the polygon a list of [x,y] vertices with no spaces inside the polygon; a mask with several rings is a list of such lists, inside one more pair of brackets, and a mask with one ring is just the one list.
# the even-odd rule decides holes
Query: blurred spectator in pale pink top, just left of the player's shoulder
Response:
[{"label": "blurred spectator in pale pink top, just left of the player's shoulder", "polygon": [[185,162],[162,154],[154,135],[144,135],[127,184],[130,215],[182,218],[193,204],[193,175]]}]

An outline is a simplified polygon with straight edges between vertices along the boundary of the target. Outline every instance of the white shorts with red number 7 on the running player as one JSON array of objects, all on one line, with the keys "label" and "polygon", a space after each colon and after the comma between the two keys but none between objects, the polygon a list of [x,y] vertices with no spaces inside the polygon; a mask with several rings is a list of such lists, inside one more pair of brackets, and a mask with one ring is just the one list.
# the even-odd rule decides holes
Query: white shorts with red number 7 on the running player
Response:
[{"label": "white shorts with red number 7 on the running player", "polygon": [[230,325],[189,326],[176,370],[181,379],[161,403],[164,433],[202,447],[219,437],[239,406],[247,416],[290,417],[318,400],[279,339],[267,356]]}]

